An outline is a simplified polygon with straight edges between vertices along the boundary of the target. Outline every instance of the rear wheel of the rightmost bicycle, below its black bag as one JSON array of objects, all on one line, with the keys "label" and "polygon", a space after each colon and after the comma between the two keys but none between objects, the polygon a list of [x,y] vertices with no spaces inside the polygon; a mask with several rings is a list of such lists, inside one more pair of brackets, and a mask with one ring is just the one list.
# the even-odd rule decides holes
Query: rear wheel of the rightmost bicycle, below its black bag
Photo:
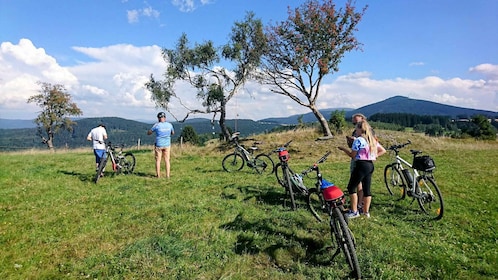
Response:
[{"label": "rear wheel of the rightmost bicycle, below its black bag", "polygon": [[417,180],[417,198],[420,209],[430,215],[434,220],[443,218],[444,203],[434,178],[423,175]]}]

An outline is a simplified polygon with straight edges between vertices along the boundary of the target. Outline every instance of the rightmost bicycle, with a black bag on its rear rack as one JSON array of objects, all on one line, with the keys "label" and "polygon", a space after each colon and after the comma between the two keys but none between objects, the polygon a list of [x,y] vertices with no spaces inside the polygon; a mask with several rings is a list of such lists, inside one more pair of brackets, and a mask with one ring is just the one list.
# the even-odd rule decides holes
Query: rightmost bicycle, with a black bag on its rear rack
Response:
[{"label": "rightmost bicycle, with a black bag on its rear rack", "polygon": [[431,215],[434,220],[440,220],[444,214],[444,203],[433,174],[436,168],[434,160],[428,155],[419,156],[422,151],[410,150],[413,155],[413,163],[410,164],[399,155],[400,149],[409,144],[410,140],[387,149],[391,154],[394,152],[394,161],[384,168],[386,188],[391,196],[397,196],[396,200],[408,196],[413,198],[413,203],[416,199],[424,213]]}]

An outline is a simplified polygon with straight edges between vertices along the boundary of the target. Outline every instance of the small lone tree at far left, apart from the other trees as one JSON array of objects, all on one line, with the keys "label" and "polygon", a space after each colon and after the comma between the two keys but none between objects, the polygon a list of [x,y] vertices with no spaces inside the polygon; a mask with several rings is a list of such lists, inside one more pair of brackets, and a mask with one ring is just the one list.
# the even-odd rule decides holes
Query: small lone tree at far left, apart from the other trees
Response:
[{"label": "small lone tree at far left, apart from the other trees", "polygon": [[54,149],[54,136],[60,130],[72,131],[73,122],[69,116],[80,116],[83,112],[76,103],[71,102],[71,95],[66,92],[63,85],[39,83],[40,94],[28,98],[28,103],[36,103],[42,111],[35,119],[37,135],[43,144],[51,150]]}]

